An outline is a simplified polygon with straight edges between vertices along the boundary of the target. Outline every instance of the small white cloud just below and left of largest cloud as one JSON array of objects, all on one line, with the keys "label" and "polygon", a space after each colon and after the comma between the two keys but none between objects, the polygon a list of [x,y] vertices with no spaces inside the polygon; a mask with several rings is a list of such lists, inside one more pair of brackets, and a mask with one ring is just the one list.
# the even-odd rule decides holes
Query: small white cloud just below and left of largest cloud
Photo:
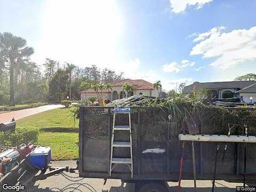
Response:
[{"label": "small white cloud just below and left of largest cloud", "polygon": [[163,71],[179,73],[181,70],[188,66],[194,66],[195,63],[196,62],[189,60],[182,60],[181,64],[179,64],[178,62],[166,63],[163,65]]}]

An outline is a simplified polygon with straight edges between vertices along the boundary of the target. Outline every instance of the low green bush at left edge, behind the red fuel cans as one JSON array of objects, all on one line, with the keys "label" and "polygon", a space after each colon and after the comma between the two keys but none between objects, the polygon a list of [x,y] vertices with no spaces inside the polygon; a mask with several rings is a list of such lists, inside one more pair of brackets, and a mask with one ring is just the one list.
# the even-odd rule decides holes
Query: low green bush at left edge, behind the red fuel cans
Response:
[{"label": "low green bush at left edge, behind the red fuel cans", "polygon": [[39,130],[35,127],[21,127],[15,129],[14,132],[0,132],[0,145],[2,146],[17,146],[22,143],[36,143]]}]

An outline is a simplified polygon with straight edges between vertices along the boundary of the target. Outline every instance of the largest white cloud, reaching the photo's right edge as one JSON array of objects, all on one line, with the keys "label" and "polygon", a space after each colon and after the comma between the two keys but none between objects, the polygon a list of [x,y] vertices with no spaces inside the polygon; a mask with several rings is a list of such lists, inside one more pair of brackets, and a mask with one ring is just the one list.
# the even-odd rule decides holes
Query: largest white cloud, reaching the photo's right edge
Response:
[{"label": "largest white cloud, reaching the photo's right edge", "polygon": [[[210,65],[226,69],[248,60],[256,59],[256,27],[237,29],[223,33],[223,27],[213,28],[199,34],[194,41],[190,55],[203,55],[202,58],[217,58]],[[210,34],[209,34],[210,33]]]}]

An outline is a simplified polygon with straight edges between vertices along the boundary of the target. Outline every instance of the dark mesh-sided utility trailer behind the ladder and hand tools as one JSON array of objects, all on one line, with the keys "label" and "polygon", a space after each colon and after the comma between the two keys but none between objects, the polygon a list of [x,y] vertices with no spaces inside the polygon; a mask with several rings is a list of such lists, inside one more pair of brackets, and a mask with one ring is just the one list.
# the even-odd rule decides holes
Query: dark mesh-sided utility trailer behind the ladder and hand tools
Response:
[{"label": "dark mesh-sided utility trailer behind the ladder and hand tools", "polygon": [[[79,177],[121,179],[140,186],[138,191],[167,191],[166,181],[178,181],[182,141],[179,141],[180,124],[160,108],[131,107],[133,177],[129,166],[118,164],[110,176],[111,137],[114,107],[84,106],[79,109]],[[127,125],[129,119],[116,119]],[[201,130],[204,127],[201,125]],[[129,134],[115,135],[118,141],[129,140]],[[195,142],[197,180],[212,180],[214,155],[218,143]],[[225,144],[220,145],[223,151]],[[254,143],[248,150],[254,150]],[[115,157],[129,158],[130,150],[115,148]],[[186,141],[183,151],[182,179],[193,179],[191,142]],[[217,180],[243,180],[244,143],[227,143],[224,161],[217,162]],[[256,181],[255,155],[247,157],[247,180]],[[155,187],[154,187],[155,186]]]}]

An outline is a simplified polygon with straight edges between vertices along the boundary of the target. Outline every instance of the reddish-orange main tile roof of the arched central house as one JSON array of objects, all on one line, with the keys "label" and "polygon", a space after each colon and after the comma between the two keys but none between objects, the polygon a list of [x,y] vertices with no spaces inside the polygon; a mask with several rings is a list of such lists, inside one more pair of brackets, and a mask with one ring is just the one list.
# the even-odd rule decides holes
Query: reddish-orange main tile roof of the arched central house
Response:
[{"label": "reddish-orange main tile roof of the arched central house", "polygon": [[125,83],[133,85],[138,90],[154,90],[154,85],[143,79],[124,79],[123,81],[113,83],[112,86],[123,86]]}]

